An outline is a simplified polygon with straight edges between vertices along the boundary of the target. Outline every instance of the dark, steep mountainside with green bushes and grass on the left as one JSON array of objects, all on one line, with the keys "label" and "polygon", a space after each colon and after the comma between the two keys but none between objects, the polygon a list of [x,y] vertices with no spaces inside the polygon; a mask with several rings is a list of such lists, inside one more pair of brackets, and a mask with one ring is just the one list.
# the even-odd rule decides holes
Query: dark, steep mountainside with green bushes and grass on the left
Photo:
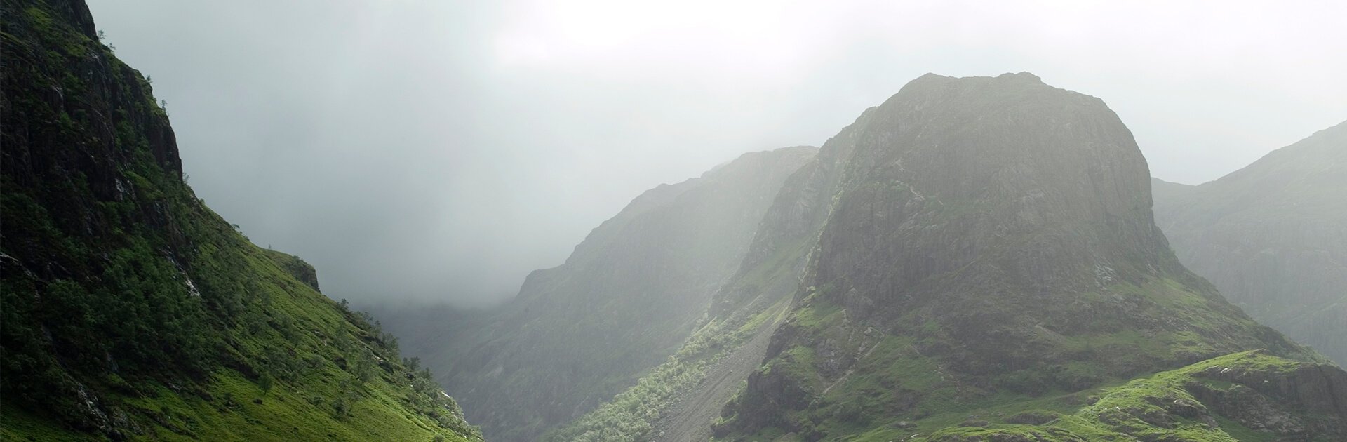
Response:
[{"label": "dark, steep mountainside with green bushes and grass on the left", "polygon": [[311,265],[195,197],[84,1],[0,9],[0,438],[480,439]]}]

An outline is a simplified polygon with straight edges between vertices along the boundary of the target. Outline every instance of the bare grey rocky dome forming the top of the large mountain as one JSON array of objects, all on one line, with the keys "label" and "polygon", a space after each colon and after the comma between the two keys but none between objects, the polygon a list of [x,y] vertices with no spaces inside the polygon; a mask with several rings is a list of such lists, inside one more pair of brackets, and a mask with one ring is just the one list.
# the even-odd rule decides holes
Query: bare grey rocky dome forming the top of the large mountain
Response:
[{"label": "bare grey rocky dome forming the top of the large mountain", "polygon": [[[1145,160],[1098,98],[1032,74],[925,75],[870,119],[816,275],[857,313],[991,280],[1087,291],[1175,267],[1150,222]],[[952,286],[921,284],[955,271]]]}]

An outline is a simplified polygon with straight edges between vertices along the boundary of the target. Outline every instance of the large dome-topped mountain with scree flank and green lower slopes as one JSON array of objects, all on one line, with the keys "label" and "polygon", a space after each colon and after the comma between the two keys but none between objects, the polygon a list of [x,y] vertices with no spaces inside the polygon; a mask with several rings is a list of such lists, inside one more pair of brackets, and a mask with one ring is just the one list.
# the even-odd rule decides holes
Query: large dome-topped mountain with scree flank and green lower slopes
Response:
[{"label": "large dome-topped mountain with scree flank and green lower slopes", "polygon": [[1347,435],[1347,373],[1185,270],[1150,193],[1099,98],[917,78],[787,179],[706,329],[552,441]]}]

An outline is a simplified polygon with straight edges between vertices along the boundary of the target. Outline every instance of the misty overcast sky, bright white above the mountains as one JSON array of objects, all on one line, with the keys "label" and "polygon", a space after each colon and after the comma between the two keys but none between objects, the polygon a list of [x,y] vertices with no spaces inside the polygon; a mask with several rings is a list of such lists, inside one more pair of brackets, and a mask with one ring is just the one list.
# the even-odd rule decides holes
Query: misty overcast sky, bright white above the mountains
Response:
[{"label": "misty overcast sky, bright white above the mountains", "polygon": [[1200,183],[1347,119],[1347,3],[90,0],[186,172],[357,303],[482,305],[659,183],[924,73],[1103,98]]}]

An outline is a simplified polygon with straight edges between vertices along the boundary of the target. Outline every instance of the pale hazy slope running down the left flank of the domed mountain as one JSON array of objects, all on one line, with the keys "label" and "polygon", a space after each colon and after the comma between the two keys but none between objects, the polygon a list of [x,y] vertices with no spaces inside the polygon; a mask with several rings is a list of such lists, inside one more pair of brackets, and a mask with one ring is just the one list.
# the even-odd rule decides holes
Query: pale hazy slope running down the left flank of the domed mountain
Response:
[{"label": "pale hazy slope running down the left flank of the domed mountain", "polygon": [[[861,121],[866,120],[867,110]],[[831,214],[841,167],[850,158],[842,131],[783,183],[738,272],[717,291],[709,321],[679,352],[636,385],[548,435],[550,441],[704,441],[748,375],[761,365],[772,334],[795,306],[801,272]]]}]

